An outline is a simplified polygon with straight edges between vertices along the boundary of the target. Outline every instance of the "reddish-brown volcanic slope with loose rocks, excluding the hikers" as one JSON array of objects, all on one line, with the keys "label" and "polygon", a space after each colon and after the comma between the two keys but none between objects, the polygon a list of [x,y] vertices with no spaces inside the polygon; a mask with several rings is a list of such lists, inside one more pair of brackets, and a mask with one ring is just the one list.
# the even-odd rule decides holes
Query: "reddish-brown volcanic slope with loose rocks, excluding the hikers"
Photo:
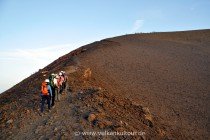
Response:
[{"label": "reddish-brown volcanic slope with loose rocks, excluding the hikers", "polygon": [[[200,30],[82,46],[0,95],[0,138],[208,139],[209,45],[210,30]],[[40,116],[41,82],[60,70],[68,92]],[[81,134],[105,131],[139,135]]]}]

